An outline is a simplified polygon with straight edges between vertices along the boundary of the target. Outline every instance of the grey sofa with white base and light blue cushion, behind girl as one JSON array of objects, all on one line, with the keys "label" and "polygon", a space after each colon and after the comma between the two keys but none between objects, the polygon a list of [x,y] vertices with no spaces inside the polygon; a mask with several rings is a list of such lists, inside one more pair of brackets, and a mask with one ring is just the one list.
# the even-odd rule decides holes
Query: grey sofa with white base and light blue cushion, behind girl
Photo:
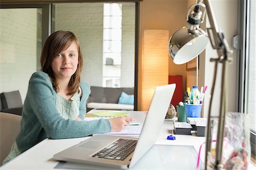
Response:
[{"label": "grey sofa with white base and light blue cushion, behind girl", "polygon": [[87,111],[91,109],[134,110],[134,103],[127,104],[120,102],[120,97],[123,94],[134,99],[134,88],[90,86],[90,95],[86,103]]}]

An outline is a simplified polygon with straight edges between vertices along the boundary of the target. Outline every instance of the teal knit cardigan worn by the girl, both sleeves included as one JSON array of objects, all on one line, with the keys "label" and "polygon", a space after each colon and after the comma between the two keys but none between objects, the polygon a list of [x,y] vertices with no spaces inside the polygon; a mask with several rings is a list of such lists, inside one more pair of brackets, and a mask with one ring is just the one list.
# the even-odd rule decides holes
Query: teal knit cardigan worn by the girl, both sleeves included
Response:
[{"label": "teal knit cardigan worn by the girl, both sleeves included", "polygon": [[[79,117],[84,118],[86,99],[89,96],[90,88],[85,83],[80,83],[80,87],[82,97]],[[108,119],[95,121],[63,119],[56,109],[56,92],[48,74],[44,72],[32,74],[23,105],[21,127],[16,138],[20,152],[28,150],[46,138],[79,138],[110,131],[111,126]]]}]

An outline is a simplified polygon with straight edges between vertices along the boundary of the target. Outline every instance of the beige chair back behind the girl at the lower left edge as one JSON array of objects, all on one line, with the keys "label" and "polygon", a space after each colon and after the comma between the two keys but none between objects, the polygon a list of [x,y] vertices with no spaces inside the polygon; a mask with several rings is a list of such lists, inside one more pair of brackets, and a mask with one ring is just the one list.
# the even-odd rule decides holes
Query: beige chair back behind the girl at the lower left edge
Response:
[{"label": "beige chair back behind the girl at the lower left edge", "polygon": [[18,135],[21,118],[20,115],[0,112],[0,166]]}]

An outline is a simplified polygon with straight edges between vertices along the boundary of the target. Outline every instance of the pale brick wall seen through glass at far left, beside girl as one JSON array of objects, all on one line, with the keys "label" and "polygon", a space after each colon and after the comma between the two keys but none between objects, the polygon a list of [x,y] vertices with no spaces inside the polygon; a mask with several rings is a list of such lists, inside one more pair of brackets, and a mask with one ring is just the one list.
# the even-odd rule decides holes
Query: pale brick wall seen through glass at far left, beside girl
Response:
[{"label": "pale brick wall seen through glass at far left, beside girl", "polygon": [[0,93],[19,90],[24,102],[36,71],[37,9],[1,9]]}]

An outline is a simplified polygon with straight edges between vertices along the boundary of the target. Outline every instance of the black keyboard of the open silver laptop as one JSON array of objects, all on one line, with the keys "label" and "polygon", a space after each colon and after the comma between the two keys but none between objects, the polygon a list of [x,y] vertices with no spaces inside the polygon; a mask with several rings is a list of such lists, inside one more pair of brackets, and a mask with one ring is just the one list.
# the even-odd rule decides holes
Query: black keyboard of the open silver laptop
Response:
[{"label": "black keyboard of the open silver laptop", "polygon": [[109,146],[106,146],[101,151],[93,155],[105,159],[125,160],[136,147],[137,140],[133,139],[118,139]]}]

